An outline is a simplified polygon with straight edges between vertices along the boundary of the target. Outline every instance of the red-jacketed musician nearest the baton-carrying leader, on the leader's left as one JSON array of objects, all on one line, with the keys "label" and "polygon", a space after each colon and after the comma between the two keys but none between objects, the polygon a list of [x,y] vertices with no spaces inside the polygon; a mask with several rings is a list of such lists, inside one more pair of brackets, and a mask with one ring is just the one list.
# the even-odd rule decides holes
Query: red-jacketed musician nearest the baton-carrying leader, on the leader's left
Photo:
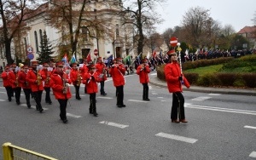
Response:
[{"label": "red-jacketed musician nearest the baton-carrying leader, on the leader's left", "polygon": [[143,60],[143,64],[137,67],[137,75],[139,75],[140,83],[143,84],[143,100],[149,101],[148,99],[148,73],[150,68],[148,66],[148,59]]}]

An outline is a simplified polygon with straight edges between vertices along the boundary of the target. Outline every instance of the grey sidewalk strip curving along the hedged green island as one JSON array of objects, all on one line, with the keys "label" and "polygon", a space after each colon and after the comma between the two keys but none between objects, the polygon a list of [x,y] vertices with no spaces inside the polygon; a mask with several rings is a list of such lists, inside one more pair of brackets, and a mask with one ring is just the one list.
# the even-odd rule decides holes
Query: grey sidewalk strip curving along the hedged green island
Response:
[{"label": "grey sidewalk strip curving along the hedged green island", "polygon": [[[167,88],[167,84],[164,81],[160,81],[158,77],[150,77],[150,83]],[[202,92],[209,94],[238,94],[238,95],[251,95],[256,96],[256,89],[228,89],[228,88],[212,88],[212,87],[199,87],[199,86],[190,86],[187,89],[183,86],[183,91],[191,92]]]}]

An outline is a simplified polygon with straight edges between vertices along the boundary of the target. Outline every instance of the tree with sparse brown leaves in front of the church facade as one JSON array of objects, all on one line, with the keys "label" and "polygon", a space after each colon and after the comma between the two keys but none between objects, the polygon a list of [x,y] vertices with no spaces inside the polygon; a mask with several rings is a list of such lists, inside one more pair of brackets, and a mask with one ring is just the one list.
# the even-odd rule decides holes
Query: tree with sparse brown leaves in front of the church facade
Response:
[{"label": "tree with sparse brown leaves in front of the church facade", "polygon": [[[101,5],[106,3],[108,2],[102,2]],[[104,38],[104,34],[113,34],[109,27],[110,20],[102,18],[101,11],[92,9],[90,0],[51,1],[50,4],[52,7],[49,9],[48,24],[61,31],[61,43],[66,43],[67,54],[75,54],[76,59],[79,39],[84,36],[81,31],[83,27],[89,37],[97,39]]]}]

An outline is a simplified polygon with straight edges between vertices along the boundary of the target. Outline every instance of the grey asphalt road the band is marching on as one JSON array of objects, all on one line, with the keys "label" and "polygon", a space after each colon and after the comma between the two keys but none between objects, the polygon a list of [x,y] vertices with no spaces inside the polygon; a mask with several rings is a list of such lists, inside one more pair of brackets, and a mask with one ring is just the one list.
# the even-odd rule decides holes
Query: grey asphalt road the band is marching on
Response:
[{"label": "grey asphalt road the band is marching on", "polygon": [[166,88],[149,84],[151,101],[145,102],[137,75],[125,79],[125,108],[115,106],[108,78],[107,96],[96,96],[99,117],[89,114],[89,95],[82,87],[82,100],[69,100],[67,124],[53,95],[53,104],[47,105],[43,94],[40,114],[26,108],[24,95],[20,106],[9,102],[1,87],[0,144],[11,142],[61,160],[256,159],[255,96],[184,91],[189,123],[177,124],[170,121],[172,94]]}]

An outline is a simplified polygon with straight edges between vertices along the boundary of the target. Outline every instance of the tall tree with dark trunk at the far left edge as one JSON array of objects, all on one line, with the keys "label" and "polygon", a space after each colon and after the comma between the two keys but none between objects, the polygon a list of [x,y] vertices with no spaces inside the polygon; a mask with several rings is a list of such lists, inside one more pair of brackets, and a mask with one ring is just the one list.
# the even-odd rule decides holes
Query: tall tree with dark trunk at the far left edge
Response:
[{"label": "tall tree with dark trunk at the far left edge", "polygon": [[11,56],[11,43],[15,34],[25,26],[23,20],[32,13],[32,9],[38,6],[35,0],[0,0],[0,14],[3,23],[2,41],[5,48],[5,56],[9,64],[14,60]]}]

